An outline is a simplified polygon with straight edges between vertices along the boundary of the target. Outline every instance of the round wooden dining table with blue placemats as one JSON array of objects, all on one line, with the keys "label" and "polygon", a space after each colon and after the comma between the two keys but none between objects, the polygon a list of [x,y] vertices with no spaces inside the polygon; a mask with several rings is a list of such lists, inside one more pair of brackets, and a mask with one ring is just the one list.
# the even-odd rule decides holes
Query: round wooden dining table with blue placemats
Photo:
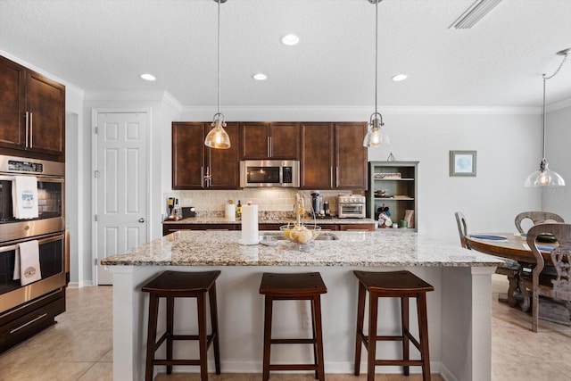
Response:
[{"label": "round wooden dining table with blue placemats", "polygon": [[[533,269],[535,265],[534,253],[532,253],[529,244],[527,244],[525,233],[481,233],[467,235],[466,244],[468,249],[517,261],[519,263],[520,274],[523,271],[531,273],[531,269]],[[550,254],[554,247],[557,247],[557,244],[537,244],[537,248],[540,250],[540,253],[542,253],[543,260],[545,261],[544,271],[550,271],[551,269],[554,271]],[[508,297],[513,298],[514,303],[519,305],[522,311],[528,311],[530,308],[530,298],[521,288],[522,286],[520,286],[513,295],[508,295]]]}]

